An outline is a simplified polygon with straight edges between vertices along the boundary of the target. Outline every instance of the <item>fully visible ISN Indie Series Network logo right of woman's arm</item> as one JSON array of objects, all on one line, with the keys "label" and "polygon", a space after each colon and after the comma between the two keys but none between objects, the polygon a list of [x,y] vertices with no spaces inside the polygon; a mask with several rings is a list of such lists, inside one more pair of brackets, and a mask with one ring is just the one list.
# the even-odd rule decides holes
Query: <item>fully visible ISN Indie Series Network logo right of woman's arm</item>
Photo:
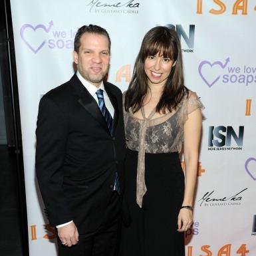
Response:
[{"label": "fully visible ISN Indie Series Network logo right of woman's arm", "polygon": [[208,150],[243,150],[243,133],[244,126],[238,135],[232,126],[209,126]]}]

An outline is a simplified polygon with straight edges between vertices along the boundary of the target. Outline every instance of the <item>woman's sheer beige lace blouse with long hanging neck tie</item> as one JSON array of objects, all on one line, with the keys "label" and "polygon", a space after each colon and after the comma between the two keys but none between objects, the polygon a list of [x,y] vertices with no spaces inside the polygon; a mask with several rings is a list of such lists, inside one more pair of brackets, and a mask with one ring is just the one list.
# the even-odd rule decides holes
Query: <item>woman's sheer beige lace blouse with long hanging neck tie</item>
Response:
[{"label": "woman's sheer beige lace blouse with long hanging neck tie", "polygon": [[197,94],[190,90],[176,110],[158,118],[154,118],[155,110],[146,118],[143,107],[143,119],[136,118],[131,111],[124,110],[126,144],[130,150],[138,151],[136,199],[140,207],[146,193],[145,153],[180,152],[184,142],[184,124],[188,120],[188,114],[197,108],[203,108],[203,104]]}]

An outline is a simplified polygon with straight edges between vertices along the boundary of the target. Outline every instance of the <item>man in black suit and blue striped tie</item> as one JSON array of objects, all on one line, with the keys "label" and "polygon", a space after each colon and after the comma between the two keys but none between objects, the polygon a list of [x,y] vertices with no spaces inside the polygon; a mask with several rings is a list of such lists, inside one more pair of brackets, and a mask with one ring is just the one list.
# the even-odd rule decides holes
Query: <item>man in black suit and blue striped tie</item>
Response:
[{"label": "man in black suit and blue striped tie", "polygon": [[122,92],[104,82],[110,38],[83,26],[74,39],[77,72],[41,98],[36,172],[59,255],[112,256],[118,245],[125,156]]}]

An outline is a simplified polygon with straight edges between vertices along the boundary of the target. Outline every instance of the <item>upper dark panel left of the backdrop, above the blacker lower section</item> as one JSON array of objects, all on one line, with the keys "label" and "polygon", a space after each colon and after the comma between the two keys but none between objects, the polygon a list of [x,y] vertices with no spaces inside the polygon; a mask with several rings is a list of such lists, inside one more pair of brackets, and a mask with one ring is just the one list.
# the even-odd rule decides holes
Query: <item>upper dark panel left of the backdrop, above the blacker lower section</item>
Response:
[{"label": "upper dark panel left of the backdrop, above the blacker lower section", "polygon": [[[10,3],[0,0],[0,144],[7,144],[10,150],[22,147],[13,42]],[[5,143],[1,142],[2,134]]]}]

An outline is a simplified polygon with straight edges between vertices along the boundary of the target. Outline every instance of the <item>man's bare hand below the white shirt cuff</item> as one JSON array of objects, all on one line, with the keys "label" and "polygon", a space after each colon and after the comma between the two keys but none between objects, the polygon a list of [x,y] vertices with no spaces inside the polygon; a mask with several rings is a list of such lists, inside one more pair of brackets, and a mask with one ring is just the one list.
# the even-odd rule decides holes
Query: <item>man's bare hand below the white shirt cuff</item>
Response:
[{"label": "man's bare hand below the white shirt cuff", "polygon": [[76,228],[76,225],[74,225],[74,222],[69,223],[68,225],[64,227],[58,228],[58,235],[61,239],[61,243],[63,245],[67,245],[68,247],[72,245],[76,245],[78,243],[78,231]]}]

